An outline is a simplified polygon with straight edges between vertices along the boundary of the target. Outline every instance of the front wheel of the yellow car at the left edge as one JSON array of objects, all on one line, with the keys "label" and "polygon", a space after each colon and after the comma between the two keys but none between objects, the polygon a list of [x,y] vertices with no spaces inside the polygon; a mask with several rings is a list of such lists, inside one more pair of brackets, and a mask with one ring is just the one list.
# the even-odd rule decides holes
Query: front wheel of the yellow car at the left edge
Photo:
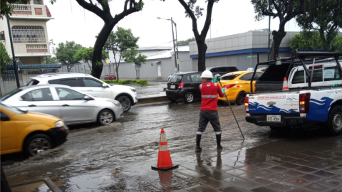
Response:
[{"label": "front wheel of the yellow car at the left edge", "polygon": [[53,142],[46,134],[34,134],[26,139],[24,153],[26,156],[36,156],[41,151],[53,149]]}]

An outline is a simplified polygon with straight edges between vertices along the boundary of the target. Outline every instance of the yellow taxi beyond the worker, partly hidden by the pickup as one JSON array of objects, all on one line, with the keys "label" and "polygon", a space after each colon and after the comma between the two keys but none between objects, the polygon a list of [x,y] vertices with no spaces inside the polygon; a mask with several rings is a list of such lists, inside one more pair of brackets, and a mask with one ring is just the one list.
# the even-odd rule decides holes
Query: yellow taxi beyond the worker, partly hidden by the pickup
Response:
[{"label": "yellow taxi beyond the worker, partly hidden by the pickup", "polygon": [[[251,80],[254,71],[235,71],[222,75],[222,87],[226,89],[226,95],[230,102],[236,102],[237,105],[244,104],[244,97],[247,92],[251,92]],[[253,87],[256,80],[260,78],[263,72],[255,73]],[[221,101],[227,101],[226,97],[218,97]]]}]

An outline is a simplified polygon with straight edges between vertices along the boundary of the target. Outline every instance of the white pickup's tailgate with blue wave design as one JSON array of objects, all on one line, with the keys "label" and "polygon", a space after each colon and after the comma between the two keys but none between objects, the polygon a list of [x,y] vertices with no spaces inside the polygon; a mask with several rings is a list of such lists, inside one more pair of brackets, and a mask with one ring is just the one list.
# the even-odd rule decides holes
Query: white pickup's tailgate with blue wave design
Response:
[{"label": "white pickup's tailgate with blue wave design", "polygon": [[299,93],[250,94],[249,114],[299,114]]}]

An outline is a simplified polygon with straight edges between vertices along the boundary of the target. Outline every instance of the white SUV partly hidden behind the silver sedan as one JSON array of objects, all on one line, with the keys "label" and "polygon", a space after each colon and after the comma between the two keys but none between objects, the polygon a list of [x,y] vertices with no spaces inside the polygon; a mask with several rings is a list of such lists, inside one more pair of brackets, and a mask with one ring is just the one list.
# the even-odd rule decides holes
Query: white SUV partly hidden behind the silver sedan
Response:
[{"label": "white SUV partly hidden behind the silver sedan", "polygon": [[83,73],[50,73],[38,75],[28,82],[28,85],[61,84],[73,87],[75,90],[86,92],[95,97],[105,97],[118,100],[123,111],[128,112],[130,107],[137,104],[137,90],[126,85],[110,85],[92,75]]}]

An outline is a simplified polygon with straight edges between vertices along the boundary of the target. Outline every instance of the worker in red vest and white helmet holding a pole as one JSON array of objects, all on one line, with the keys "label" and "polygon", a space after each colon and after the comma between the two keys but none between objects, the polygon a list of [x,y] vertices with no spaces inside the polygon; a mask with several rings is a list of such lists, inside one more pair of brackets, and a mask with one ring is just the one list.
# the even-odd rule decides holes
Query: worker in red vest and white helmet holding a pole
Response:
[{"label": "worker in red vest and white helmet holding a pole", "polygon": [[[199,125],[196,132],[196,152],[202,151],[200,147],[201,137],[208,122],[212,124],[216,133],[217,149],[223,149],[221,146],[221,125],[219,124],[219,114],[217,113],[217,94],[219,97],[224,97],[225,89],[219,87],[217,82],[212,82],[212,73],[209,70],[204,70],[201,75],[202,84],[199,85],[199,90],[202,95],[201,112],[199,113]],[[223,92],[222,92],[223,91]]]}]

